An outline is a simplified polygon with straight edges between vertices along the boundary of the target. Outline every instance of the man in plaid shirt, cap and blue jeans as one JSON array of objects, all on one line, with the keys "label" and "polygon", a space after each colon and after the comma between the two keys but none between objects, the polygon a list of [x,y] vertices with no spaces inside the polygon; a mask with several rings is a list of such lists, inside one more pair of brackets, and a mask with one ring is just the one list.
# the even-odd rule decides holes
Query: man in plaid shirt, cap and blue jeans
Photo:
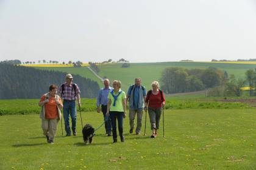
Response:
[{"label": "man in plaid shirt, cap and blue jeans", "polygon": [[81,107],[80,102],[80,90],[76,83],[73,83],[73,76],[71,74],[66,75],[66,82],[60,86],[59,94],[63,99],[63,117],[65,121],[66,136],[71,135],[69,126],[69,114],[72,120],[73,135],[76,136],[76,100],[78,106]]}]

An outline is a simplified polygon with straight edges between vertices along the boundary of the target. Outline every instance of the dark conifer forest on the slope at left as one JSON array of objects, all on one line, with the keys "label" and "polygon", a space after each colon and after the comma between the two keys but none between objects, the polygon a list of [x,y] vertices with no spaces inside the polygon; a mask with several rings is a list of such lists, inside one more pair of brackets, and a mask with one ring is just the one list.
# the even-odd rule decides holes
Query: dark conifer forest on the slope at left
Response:
[{"label": "dark conifer forest on the slope at left", "polygon": [[[65,82],[64,72],[37,70],[31,67],[12,66],[0,63],[0,99],[40,98],[49,91],[50,84],[60,86]],[[96,81],[73,75],[81,97],[94,98],[98,94]]]}]

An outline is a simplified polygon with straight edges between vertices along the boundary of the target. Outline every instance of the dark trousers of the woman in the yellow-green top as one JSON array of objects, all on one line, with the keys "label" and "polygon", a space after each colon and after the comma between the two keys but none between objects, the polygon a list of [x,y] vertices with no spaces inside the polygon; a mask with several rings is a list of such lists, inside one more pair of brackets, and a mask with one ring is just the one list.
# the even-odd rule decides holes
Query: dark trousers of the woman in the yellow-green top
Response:
[{"label": "dark trousers of the woman in the yellow-green top", "polygon": [[112,134],[113,134],[113,139],[117,139],[117,134],[116,134],[116,120],[118,120],[118,131],[119,131],[119,136],[123,137],[123,116],[124,112],[115,112],[111,111],[109,112],[110,118],[111,118],[111,123],[112,123]]}]

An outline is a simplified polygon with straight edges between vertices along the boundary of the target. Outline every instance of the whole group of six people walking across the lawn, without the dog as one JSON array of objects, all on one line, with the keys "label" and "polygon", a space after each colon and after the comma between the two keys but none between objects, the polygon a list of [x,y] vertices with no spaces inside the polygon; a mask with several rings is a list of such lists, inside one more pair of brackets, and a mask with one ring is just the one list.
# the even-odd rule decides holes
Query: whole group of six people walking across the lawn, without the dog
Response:
[{"label": "whole group of six people walking across the lawn, without the dog", "polygon": [[[126,107],[129,103],[129,133],[133,134],[135,128],[135,117],[137,115],[137,127],[135,128],[135,135],[141,133],[143,111],[149,112],[149,118],[152,129],[152,138],[157,137],[157,129],[159,129],[159,122],[162,113],[162,107],[165,105],[165,96],[160,90],[159,83],[153,81],[152,89],[148,92],[146,88],[141,85],[141,78],[135,78],[135,83],[129,87],[126,93],[121,90],[121,81],[114,80],[112,87],[110,81],[104,80],[104,87],[99,90],[97,98],[98,113],[102,112],[105,121],[105,134],[113,136],[113,143],[118,141],[116,132],[116,121],[118,123],[119,137],[122,142],[125,141],[123,135],[123,118],[126,118]],[[57,95],[59,92],[59,95]],[[63,103],[62,103],[63,100]],[[58,87],[52,84],[49,87],[49,92],[44,94],[38,105],[41,106],[41,120],[43,134],[46,136],[48,143],[54,143],[54,136],[57,131],[59,120],[61,120],[61,109],[63,108],[63,117],[65,122],[66,136],[77,135],[76,131],[76,100],[78,106],[80,103],[80,90],[76,83],[73,83],[73,76],[66,75],[66,81],[59,90]],[[69,126],[69,115],[72,120],[72,127]]]}]

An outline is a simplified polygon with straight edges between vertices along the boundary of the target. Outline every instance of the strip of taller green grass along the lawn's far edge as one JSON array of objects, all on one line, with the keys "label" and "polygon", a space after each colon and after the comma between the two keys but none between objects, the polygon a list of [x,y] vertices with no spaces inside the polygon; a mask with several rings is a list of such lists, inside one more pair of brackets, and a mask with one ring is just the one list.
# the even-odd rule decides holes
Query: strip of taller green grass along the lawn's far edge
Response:
[{"label": "strip of taller green grass along the lawn's far edge", "polygon": [[[207,101],[194,100],[194,98],[166,98],[165,109],[245,109],[249,108],[245,103],[214,101],[216,98],[209,98]],[[39,114],[41,107],[38,106],[39,99],[22,100],[0,100],[0,115],[27,115]],[[96,99],[82,98],[82,112],[96,111]],[[77,106],[78,109],[78,106]]]}]

